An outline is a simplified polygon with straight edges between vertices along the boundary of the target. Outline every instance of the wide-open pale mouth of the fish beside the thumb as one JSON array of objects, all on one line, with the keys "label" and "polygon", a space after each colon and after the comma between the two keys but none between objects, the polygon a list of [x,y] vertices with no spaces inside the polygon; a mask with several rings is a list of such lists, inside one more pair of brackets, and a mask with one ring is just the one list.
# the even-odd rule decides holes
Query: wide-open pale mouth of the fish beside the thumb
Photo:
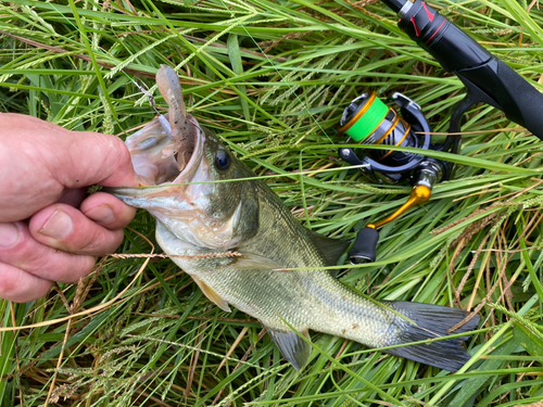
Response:
[{"label": "wide-open pale mouth of the fish beside the thumb", "polygon": [[179,194],[187,183],[197,181],[204,158],[205,133],[194,117],[188,115],[188,122],[193,131],[185,138],[169,138],[157,118],[127,137],[125,144],[140,188],[109,188],[109,192],[129,205],[144,207],[130,198]]}]

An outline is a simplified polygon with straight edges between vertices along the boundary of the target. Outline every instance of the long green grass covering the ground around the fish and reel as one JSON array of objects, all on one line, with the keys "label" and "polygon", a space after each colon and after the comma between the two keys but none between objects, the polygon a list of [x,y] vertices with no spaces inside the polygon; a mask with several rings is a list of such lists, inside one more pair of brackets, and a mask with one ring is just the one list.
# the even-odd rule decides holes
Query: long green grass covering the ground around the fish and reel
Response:
[{"label": "long green grass covering the ground around the fish and reel", "polygon": [[[543,80],[536,2],[431,3],[526,78]],[[134,81],[154,90],[159,65],[176,66],[191,113],[256,174],[276,176],[269,186],[300,221],[352,238],[395,211],[408,186],[342,169],[336,131],[348,102],[371,89],[383,99],[401,91],[444,131],[464,94],[395,20],[372,1],[2,2],[0,109],[124,137],[154,116]],[[541,400],[541,143],[516,128],[489,106],[471,111],[453,179],[382,229],[379,262],[340,274],[375,298],[477,310],[481,329],[467,342],[475,357],[460,372],[318,333],[296,372],[256,321],[211,304],[171,260],[110,256],[47,298],[0,302],[2,327],[33,326],[1,332],[1,406]],[[160,252],[153,231],[139,213],[118,253]]]}]

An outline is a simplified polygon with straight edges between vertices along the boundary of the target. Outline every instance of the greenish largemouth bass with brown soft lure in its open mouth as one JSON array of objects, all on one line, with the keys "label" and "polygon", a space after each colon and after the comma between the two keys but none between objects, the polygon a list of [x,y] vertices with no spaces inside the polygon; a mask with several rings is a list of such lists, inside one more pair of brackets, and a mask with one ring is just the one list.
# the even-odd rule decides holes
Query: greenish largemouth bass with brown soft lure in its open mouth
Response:
[{"label": "greenish largemouth bass with brown soft lure in its open mouth", "polygon": [[[384,347],[444,336],[467,316],[438,305],[371,302],[338,281],[323,267],[334,265],[348,243],[304,228],[212,131],[188,115],[174,69],[162,66],[156,81],[169,104],[171,130],[154,119],[126,140],[141,186],[155,188],[113,192],[149,211],[164,252],[187,256],[173,260],[222,309],[235,306],[258,319],[294,368],[310,357],[311,345],[302,338],[310,339],[310,329]],[[204,181],[226,182],[199,183]],[[194,257],[228,251],[241,256]],[[285,268],[312,269],[278,270]],[[475,329],[478,321],[471,319],[455,333]],[[464,340],[386,352],[456,371],[469,359]]]}]

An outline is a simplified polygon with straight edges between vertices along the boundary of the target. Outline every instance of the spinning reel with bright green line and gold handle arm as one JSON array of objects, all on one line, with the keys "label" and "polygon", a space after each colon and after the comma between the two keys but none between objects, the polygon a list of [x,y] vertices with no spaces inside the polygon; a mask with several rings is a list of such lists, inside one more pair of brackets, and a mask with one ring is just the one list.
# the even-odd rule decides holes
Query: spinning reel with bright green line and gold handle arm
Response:
[{"label": "spinning reel with bright green line and gold handle arm", "polygon": [[[356,236],[349,252],[351,263],[375,262],[377,231],[383,225],[396,219],[411,207],[427,202],[435,183],[451,177],[452,164],[424,155],[426,150],[450,151],[454,142],[432,144],[428,124],[420,106],[402,93],[392,94],[392,100],[400,106],[401,116],[391,106],[387,106],[376,92],[364,93],[354,99],[343,112],[340,120],[340,135],[349,137],[348,143],[382,145],[382,150],[340,149],[339,155],[352,165],[362,165],[361,170],[379,183],[395,185],[408,180],[413,190],[405,202],[392,215],[368,224]],[[419,149],[420,153],[411,153],[388,149],[389,145]]]}]

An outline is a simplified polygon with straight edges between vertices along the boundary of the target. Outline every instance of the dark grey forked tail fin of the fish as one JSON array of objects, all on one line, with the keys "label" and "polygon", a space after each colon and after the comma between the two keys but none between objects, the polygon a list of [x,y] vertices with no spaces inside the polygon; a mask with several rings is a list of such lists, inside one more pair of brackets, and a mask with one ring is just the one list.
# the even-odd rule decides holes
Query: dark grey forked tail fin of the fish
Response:
[{"label": "dark grey forked tail fin of the fish", "polygon": [[[414,326],[408,321],[399,323],[401,327],[399,344],[426,341],[437,338],[437,335],[446,336],[449,334],[471,331],[479,325],[479,316],[476,316],[462,328],[447,333],[449,329],[466,318],[469,313],[464,309],[420,303],[393,302],[391,306],[417,325]],[[462,336],[428,344],[402,346],[387,351],[387,353],[440,369],[457,371],[470,358],[469,354],[462,346],[462,342],[468,338]]]}]

